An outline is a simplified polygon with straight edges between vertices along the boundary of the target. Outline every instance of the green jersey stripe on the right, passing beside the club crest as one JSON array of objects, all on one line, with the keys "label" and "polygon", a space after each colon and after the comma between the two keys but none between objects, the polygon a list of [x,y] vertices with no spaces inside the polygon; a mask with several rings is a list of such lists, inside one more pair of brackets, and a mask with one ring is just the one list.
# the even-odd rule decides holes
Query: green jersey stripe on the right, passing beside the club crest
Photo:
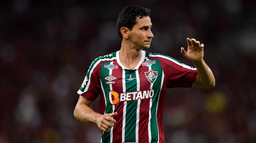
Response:
[{"label": "green jersey stripe on the right, passing beside the club crest", "polygon": [[[150,59],[156,60],[156,59]],[[162,80],[162,67],[158,60],[156,60],[156,64],[152,64],[152,71],[157,71],[157,79],[153,84],[152,89],[154,89],[154,97],[152,98],[152,107],[151,107],[151,119],[150,119],[150,128],[151,128],[151,142],[157,142],[158,140],[158,126],[156,120],[156,106],[157,100],[161,88],[161,80]]]}]

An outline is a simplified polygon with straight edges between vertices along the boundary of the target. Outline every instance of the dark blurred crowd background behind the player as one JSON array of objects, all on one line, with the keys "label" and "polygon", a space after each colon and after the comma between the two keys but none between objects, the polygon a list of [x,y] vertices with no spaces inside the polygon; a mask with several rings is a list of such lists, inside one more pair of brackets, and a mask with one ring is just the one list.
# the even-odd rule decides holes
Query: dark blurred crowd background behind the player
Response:
[{"label": "dark blurred crowd background behind the player", "polygon": [[100,142],[97,125],[73,116],[77,90],[96,57],[120,49],[128,5],[151,10],[147,51],[193,66],[180,47],[195,38],[216,79],[167,90],[166,142],[256,142],[256,1],[15,0],[0,5],[0,143]]}]

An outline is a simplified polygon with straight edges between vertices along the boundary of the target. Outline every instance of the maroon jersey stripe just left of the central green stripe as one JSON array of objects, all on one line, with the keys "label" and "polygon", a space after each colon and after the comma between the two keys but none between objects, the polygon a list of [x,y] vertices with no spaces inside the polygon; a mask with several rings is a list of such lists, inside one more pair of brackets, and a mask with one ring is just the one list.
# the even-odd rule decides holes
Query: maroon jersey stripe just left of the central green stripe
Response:
[{"label": "maroon jersey stripe just left of the central green stripe", "polygon": [[[113,91],[117,92],[120,97],[120,93],[123,93],[123,82],[122,82],[122,68],[117,64],[117,61],[113,61],[114,65],[117,65],[117,69],[112,70],[112,76],[116,77],[115,84],[112,84]],[[120,100],[120,99],[119,99]],[[116,123],[113,127],[113,142],[122,142],[122,128],[123,128],[123,104],[124,102],[118,102],[115,104],[114,112],[117,112],[117,116],[114,117]]]}]

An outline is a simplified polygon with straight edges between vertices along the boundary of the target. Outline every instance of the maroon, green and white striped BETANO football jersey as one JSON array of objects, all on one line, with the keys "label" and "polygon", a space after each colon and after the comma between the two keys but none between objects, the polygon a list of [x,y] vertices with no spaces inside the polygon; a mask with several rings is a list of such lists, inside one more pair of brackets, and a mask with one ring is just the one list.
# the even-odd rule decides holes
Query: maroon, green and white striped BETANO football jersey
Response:
[{"label": "maroon, green and white striped BETANO football jersey", "polygon": [[127,69],[116,51],[92,62],[77,93],[89,101],[100,95],[101,114],[118,113],[102,143],[162,143],[166,87],[191,87],[196,76],[196,68],[143,50],[139,64]]}]

